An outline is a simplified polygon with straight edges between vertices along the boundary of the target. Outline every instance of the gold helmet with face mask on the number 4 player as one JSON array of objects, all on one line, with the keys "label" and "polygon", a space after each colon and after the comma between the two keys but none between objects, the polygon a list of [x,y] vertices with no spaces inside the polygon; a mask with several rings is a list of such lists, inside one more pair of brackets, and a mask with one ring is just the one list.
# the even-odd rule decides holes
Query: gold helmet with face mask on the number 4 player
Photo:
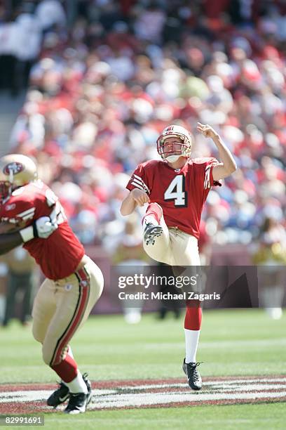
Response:
[{"label": "gold helmet with face mask on the number 4 player", "polygon": [[[167,148],[165,148],[165,140],[170,137],[176,137],[182,141],[179,149],[177,149],[177,144],[176,144],[176,150],[174,150],[174,148],[170,148],[168,150]],[[191,143],[192,143],[192,137],[191,137],[191,133],[189,133],[188,130],[186,130],[182,126],[170,125],[165,129],[163,129],[162,134],[158,137],[157,151],[158,151],[158,154],[161,155],[163,159],[168,160],[169,158],[170,162],[175,162],[176,161],[175,158],[178,159],[181,156],[189,158],[189,156],[191,155]],[[179,155],[172,155],[173,152],[179,152]],[[172,159],[170,159],[170,157],[172,157]]]}]

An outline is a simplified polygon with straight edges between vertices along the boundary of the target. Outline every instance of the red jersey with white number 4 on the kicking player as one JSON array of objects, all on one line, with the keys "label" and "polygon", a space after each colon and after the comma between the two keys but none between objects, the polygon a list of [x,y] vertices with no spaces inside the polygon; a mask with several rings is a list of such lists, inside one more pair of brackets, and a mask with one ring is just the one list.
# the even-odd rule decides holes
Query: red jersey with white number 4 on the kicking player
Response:
[{"label": "red jersey with white number 4 on the kicking player", "polygon": [[212,178],[215,158],[189,159],[182,169],[172,169],[168,162],[151,160],[139,164],[127,189],[144,190],[150,202],[160,204],[165,223],[199,237],[203,204],[212,185],[221,185]]}]

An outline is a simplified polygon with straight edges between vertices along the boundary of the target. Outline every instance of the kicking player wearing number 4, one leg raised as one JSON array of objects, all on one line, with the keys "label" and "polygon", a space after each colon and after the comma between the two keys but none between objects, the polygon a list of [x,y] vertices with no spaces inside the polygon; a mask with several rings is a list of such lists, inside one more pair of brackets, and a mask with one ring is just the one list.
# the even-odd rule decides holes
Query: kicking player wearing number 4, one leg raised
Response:
[{"label": "kicking player wearing number 4, one leg raised", "polygon": [[[156,261],[170,266],[200,266],[198,237],[200,216],[213,185],[221,185],[236,170],[236,162],[219,134],[198,123],[197,130],[212,138],[219,151],[215,158],[191,159],[192,136],[179,125],[170,125],[157,140],[162,160],[139,164],[126,188],[129,195],[121,204],[121,214],[148,203],[143,218],[144,249]],[[183,370],[191,389],[201,389],[196,362],[202,311],[200,302],[187,303],[184,320],[186,358]]]}]

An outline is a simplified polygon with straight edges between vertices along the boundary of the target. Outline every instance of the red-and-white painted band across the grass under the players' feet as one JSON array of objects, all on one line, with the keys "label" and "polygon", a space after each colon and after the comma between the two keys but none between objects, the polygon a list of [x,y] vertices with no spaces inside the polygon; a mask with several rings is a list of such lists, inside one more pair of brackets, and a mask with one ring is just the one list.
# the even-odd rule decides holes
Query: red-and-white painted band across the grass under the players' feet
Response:
[{"label": "red-and-white painted band across the grass under the players' feet", "polygon": [[[53,412],[46,398],[53,384],[0,385],[0,414]],[[286,402],[286,376],[210,377],[201,391],[191,391],[185,379],[144,379],[93,382],[89,410],[170,408],[186,405]],[[64,409],[62,405],[59,409]]]}]

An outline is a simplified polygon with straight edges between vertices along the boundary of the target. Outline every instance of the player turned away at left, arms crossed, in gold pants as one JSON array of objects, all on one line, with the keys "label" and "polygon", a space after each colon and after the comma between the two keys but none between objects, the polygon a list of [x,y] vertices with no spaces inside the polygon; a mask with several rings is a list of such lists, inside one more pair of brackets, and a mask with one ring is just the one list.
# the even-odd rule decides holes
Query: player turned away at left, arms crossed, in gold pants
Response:
[{"label": "player turned away at left, arms crossed, in gold pants", "polygon": [[61,378],[47,403],[56,408],[69,400],[65,412],[85,412],[91,386],[69,342],[102,294],[100,268],[86,256],[59,200],[37,179],[36,164],[25,155],[0,159],[0,219],[0,254],[24,242],[46,276],[34,300],[32,331],[42,344],[43,361]]}]

